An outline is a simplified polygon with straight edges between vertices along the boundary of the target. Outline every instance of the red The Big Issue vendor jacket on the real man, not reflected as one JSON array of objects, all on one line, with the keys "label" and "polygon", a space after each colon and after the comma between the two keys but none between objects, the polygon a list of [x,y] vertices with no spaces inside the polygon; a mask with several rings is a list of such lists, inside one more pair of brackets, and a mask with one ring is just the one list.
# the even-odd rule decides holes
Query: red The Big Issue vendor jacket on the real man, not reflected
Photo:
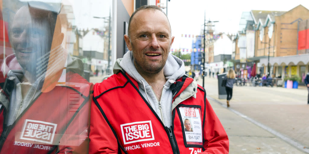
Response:
[{"label": "red The Big Issue vendor jacket on the real man, not reflected", "polygon": [[[182,92],[192,82],[185,76],[178,79],[172,88],[174,99],[187,97]],[[200,86],[196,90],[196,98],[189,97],[173,109],[173,126],[168,128],[139,92],[137,81],[127,74],[121,72],[96,84],[89,153],[228,153],[226,132],[205,90]],[[195,132],[184,131],[185,118]]]}]

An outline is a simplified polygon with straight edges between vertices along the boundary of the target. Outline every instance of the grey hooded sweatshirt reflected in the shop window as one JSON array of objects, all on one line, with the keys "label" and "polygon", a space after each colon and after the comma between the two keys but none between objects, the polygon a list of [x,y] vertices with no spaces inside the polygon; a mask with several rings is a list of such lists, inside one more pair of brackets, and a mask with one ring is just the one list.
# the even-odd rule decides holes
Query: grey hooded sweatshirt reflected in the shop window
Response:
[{"label": "grey hooded sweatshirt reflected in the shop window", "polygon": [[[68,54],[67,63],[67,72],[71,71],[74,73],[78,73],[79,75],[83,75],[83,62],[80,59],[71,57]],[[16,87],[12,90],[12,97],[10,102],[5,95],[0,95],[0,102],[8,110],[7,125],[11,125],[14,123],[16,118],[29,106],[29,104],[34,99],[36,99],[38,95],[40,95],[45,73],[40,75],[40,77],[38,77],[38,79],[34,83],[32,83],[25,97],[22,98],[22,83],[20,81],[24,76],[24,71],[23,68],[19,65],[14,54],[9,55],[8,57],[6,57],[6,59],[4,59],[1,71],[7,75],[8,80],[12,80],[16,85]]]}]

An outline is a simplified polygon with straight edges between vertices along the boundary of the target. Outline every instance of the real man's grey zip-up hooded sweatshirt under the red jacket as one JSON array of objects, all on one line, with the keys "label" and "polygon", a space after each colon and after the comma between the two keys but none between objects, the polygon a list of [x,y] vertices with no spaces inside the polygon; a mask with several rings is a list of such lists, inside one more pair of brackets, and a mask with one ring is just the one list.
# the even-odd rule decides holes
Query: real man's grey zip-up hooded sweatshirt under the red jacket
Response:
[{"label": "real man's grey zip-up hooded sweatshirt under the red jacket", "polygon": [[[151,86],[136,70],[133,63],[132,51],[128,51],[123,56],[123,59],[117,59],[117,62],[114,66],[114,73],[120,71],[121,68],[119,68],[119,66],[138,82],[138,88],[139,91],[142,93],[143,97],[148,100],[151,107],[155,110],[157,115],[162,120],[163,124],[167,127],[170,127],[172,125],[172,99],[173,99],[170,86],[176,81],[176,79],[185,75],[184,62],[172,54],[168,55],[166,64],[163,68],[164,76],[167,79],[167,82],[163,86],[163,91],[160,100],[157,100],[157,97],[154,91],[152,90]],[[159,109],[159,101],[161,101],[160,103],[162,106],[162,111],[160,111]]]}]

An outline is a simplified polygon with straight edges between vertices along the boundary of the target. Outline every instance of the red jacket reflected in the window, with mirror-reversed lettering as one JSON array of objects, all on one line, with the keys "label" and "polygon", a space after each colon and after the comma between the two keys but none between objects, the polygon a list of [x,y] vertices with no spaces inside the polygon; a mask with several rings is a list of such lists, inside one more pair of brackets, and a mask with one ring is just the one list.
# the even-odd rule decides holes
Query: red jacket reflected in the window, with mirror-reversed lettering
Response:
[{"label": "red jacket reflected in the window, with mirror-reversed lettering", "polygon": [[93,84],[71,72],[66,74],[66,81],[65,85],[40,93],[9,127],[3,127],[7,109],[2,105],[1,153],[65,153],[71,149],[87,152],[89,93]]}]

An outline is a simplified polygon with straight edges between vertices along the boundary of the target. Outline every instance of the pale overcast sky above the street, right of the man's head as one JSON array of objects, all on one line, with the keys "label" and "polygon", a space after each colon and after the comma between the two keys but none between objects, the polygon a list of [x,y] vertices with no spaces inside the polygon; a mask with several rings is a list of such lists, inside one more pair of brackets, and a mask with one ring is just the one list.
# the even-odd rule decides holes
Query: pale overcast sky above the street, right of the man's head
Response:
[{"label": "pale overcast sky above the street, right of the man's head", "polygon": [[167,5],[167,16],[172,35],[175,36],[172,48],[191,48],[192,38],[181,37],[181,34],[200,34],[204,24],[204,11],[206,20],[219,21],[214,23],[216,32],[236,34],[242,12],[289,11],[300,4],[309,9],[309,0],[171,0]]}]

